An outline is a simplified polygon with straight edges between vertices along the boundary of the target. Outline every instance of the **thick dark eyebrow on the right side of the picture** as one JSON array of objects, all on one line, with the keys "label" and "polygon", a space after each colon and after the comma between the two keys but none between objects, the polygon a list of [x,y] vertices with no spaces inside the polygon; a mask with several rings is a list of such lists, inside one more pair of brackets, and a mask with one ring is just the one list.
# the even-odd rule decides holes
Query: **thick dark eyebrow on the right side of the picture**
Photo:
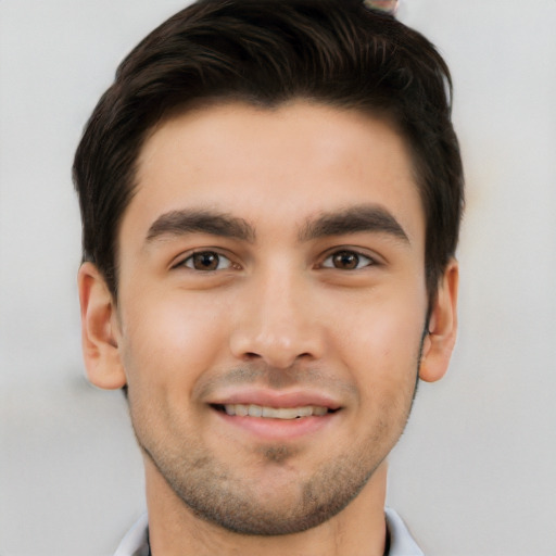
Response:
[{"label": "thick dark eyebrow on the right side of the picture", "polygon": [[329,236],[343,236],[359,231],[386,233],[409,243],[402,225],[383,206],[357,205],[340,212],[324,213],[309,220],[299,233],[300,241],[309,241]]}]

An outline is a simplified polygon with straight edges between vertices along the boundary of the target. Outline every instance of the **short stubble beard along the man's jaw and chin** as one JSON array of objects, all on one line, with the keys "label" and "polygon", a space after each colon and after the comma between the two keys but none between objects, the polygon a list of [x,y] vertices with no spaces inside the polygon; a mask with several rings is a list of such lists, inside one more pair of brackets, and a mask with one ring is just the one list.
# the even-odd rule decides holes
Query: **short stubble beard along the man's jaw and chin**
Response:
[{"label": "short stubble beard along the man's jaw and chin", "polygon": [[[421,351],[422,341],[418,362]],[[278,495],[274,501],[261,496],[260,485],[249,473],[238,476],[200,442],[188,439],[181,446],[170,448],[153,442],[149,447],[135,422],[134,429],[146,457],[194,516],[243,535],[293,534],[329,520],[359,494],[405,429],[417,383],[418,372],[405,392],[394,401],[383,402],[372,431],[358,445],[324,460],[311,476],[299,481],[293,495]],[[295,453],[288,445],[277,444],[262,448],[260,456],[262,465],[279,469]]]}]

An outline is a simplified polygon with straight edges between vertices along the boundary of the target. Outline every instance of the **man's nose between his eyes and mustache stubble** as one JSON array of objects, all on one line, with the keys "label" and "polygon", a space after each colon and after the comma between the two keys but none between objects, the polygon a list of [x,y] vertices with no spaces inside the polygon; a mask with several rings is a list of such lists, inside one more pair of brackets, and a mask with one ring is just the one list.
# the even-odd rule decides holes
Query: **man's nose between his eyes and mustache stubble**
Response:
[{"label": "man's nose between his eyes and mustache stubble", "polygon": [[300,359],[317,361],[325,350],[325,326],[317,295],[303,275],[265,273],[247,281],[236,305],[232,355],[286,369]]}]

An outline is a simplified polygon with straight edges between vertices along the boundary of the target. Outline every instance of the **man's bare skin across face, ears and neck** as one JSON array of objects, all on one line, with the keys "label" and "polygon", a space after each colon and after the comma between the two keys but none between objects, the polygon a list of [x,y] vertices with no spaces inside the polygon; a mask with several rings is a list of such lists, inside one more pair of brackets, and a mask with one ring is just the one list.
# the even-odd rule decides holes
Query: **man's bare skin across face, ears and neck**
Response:
[{"label": "man's bare skin across face, ears and neck", "polygon": [[[455,262],[426,321],[401,137],[301,100],[175,116],[141,150],[117,241],[117,300],[79,271],[84,353],[94,384],[128,384],[153,554],[381,555],[384,458],[456,331]],[[253,396],[330,412],[219,410]]]}]

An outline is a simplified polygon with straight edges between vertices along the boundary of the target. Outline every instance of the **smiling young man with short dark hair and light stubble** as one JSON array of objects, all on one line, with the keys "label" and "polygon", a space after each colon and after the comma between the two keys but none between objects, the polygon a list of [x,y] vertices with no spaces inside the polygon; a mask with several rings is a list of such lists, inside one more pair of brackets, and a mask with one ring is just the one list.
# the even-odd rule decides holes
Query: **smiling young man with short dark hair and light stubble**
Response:
[{"label": "smiling young man with short dark hair and light stubble", "polygon": [[456,333],[463,174],[434,48],[357,0],[205,0],[77,150],[88,376],[148,518],[116,554],[421,554],[386,457]]}]

